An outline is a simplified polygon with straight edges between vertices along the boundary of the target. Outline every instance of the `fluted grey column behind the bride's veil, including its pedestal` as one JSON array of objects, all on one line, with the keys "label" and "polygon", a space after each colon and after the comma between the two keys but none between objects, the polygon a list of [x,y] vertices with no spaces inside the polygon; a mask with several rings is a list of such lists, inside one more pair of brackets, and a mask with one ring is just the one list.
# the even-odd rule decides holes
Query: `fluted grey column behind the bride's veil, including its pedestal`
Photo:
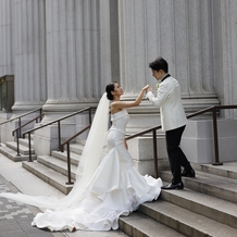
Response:
[{"label": "fluted grey column behind the bride's veil, including its pedestal", "polygon": [[[110,9],[116,8],[115,3],[46,1],[48,99],[42,123],[98,104],[111,82]],[[73,136],[88,122],[88,113],[63,121],[62,137]],[[38,130],[35,140],[49,153],[58,148],[57,127]]]}]

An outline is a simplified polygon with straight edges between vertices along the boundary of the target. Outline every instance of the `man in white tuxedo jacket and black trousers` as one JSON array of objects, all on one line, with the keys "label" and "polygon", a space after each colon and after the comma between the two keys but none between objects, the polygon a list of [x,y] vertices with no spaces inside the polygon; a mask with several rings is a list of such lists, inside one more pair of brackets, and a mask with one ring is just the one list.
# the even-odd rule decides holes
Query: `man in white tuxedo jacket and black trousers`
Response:
[{"label": "man in white tuxedo jacket and black trousers", "polygon": [[[182,151],[179,144],[187,118],[180,99],[179,83],[169,74],[169,64],[158,58],[149,64],[153,77],[160,82],[157,97],[152,88],[147,89],[146,98],[160,108],[162,130],[165,132],[166,149],[173,175],[172,183],[162,189],[183,189],[182,176],[195,177],[195,171]],[[184,171],[180,172],[180,167]]]}]

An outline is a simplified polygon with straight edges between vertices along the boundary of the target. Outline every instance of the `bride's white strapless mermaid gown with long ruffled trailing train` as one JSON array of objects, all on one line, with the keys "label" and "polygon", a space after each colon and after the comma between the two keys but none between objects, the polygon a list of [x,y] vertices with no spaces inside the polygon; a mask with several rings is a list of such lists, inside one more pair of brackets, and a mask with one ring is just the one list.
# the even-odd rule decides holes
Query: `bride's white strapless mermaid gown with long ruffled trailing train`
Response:
[{"label": "bride's white strapless mermaid gown with long ruffled trailing train", "polygon": [[33,225],[39,228],[48,227],[50,230],[118,228],[120,215],[128,215],[137,210],[140,203],[155,200],[162,186],[160,178],[142,176],[133,165],[133,159],[124,146],[128,117],[125,110],[111,115],[113,125],[108,134],[109,152],[89,183],[82,187],[83,191],[76,187],[68,195],[71,198],[65,200],[21,194],[0,194],[0,196],[37,207],[43,203],[48,209],[38,213],[33,221]]}]

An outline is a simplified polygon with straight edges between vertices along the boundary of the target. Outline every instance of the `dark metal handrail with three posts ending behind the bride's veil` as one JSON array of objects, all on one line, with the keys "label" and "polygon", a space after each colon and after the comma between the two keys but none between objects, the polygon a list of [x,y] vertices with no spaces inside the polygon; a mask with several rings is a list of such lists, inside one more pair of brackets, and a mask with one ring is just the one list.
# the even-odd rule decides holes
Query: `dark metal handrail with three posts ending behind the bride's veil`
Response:
[{"label": "dark metal handrail with three posts ending behind the bride's veil", "polygon": [[28,161],[29,161],[29,162],[33,162],[33,160],[32,160],[32,149],[30,149],[30,147],[32,147],[32,144],[30,144],[30,133],[33,133],[33,132],[35,132],[35,130],[38,130],[38,129],[41,129],[41,128],[43,128],[43,127],[46,127],[46,126],[48,126],[48,125],[58,123],[59,150],[61,150],[61,126],[60,126],[61,121],[63,121],[63,120],[65,120],[65,118],[68,118],[68,117],[71,117],[71,116],[74,116],[74,115],[76,115],[76,114],[78,114],[78,113],[83,113],[83,112],[85,112],[85,111],[89,111],[89,123],[91,123],[91,110],[92,110],[92,109],[96,109],[96,108],[93,108],[93,107],[87,107],[87,108],[82,109],[82,110],[79,110],[79,111],[76,111],[76,112],[74,112],[74,113],[71,113],[71,114],[67,114],[67,115],[65,115],[65,116],[59,117],[59,118],[57,118],[57,120],[54,120],[54,121],[51,121],[51,122],[49,122],[49,123],[47,123],[47,124],[40,125],[39,127],[35,127],[35,128],[33,128],[33,129],[29,129],[29,130],[24,132],[24,133],[23,133],[23,137],[25,137],[25,135],[28,134],[28,147],[29,147],[29,160],[28,160]]}]

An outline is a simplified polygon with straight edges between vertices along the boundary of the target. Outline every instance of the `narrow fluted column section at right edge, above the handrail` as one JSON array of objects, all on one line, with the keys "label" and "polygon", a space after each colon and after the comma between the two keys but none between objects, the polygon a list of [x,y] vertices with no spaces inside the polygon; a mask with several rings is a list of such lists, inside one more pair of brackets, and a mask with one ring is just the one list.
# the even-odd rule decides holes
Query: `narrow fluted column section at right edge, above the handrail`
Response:
[{"label": "narrow fluted column section at right edge, above the handrail", "polygon": [[[212,1],[215,88],[222,104],[237,104],[237,4],[235,0]],[[237,117],[237,110],[224,110],[225,117]]]}]

